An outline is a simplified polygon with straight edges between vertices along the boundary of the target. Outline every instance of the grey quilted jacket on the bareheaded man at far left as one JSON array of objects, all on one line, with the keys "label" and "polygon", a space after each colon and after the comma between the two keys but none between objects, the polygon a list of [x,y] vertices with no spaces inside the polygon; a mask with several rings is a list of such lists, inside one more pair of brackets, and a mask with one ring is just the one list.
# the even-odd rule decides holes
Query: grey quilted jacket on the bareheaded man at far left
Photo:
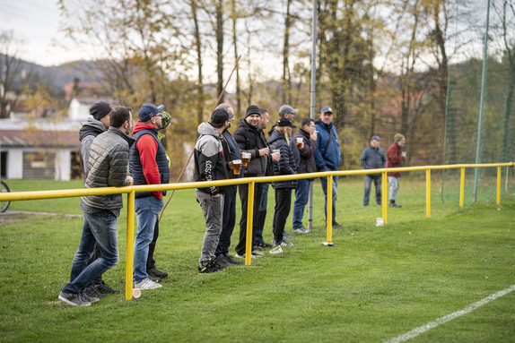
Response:
[{"label": "grey quilted jacket on the bareheaded man at far left", "polygon": [[[122,187],[129,185],[129,148],[134,140],[116,127],[109,127],[92,142],[88,169],[90,173],[84,188]],[[82,197],[87,206],[101,210],[119,210],[123,207],[122,194],[89,195]]]}]

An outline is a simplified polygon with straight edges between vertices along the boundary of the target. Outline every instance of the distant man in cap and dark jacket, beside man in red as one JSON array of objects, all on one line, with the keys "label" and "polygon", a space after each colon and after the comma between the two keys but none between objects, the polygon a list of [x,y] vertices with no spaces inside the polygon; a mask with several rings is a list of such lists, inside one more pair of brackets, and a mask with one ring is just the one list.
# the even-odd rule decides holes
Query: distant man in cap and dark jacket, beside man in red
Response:
[{"label": "distant man in cap and dark jacket, beside man in red", "polygon": [[[373,136],[371,138],[371,146],[367,147],[362,152],[362,163],[363,169],[379,169],[384,168],[386,163],[385,152],[380,148],[380,137]],[[378,174],[367,174],[365,175],[365,194],[363,197],[363,206],[369,205],[369,199],[371,195],[372,181],[376,187],[376,202],[378,205],[381,204],[381,182],[382,175]]]}]

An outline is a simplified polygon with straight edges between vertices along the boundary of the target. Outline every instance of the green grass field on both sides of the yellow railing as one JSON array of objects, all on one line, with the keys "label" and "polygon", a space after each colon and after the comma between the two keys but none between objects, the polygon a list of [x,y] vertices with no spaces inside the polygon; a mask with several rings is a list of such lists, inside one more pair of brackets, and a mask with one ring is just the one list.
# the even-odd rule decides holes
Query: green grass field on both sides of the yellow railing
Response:
[{"label": "green grass field on both sides of the yellow railing", "polygon": [[[81,188],[81,181],[7,181],[14,191]],[[0,215],[2,342],[382,342],[463,310],[515,284],[515,197],[495,193],[459,210],[425,183],[403,180],[402,209],[362,207],[362,179],[340,180],[334,247],[323,227],[323,194],[314,187],[314,232],[284,253],[197,275],[204,235],[193,190],[177,191],[161,221],[156,261],[170,273],[139,299],[107,296],[91,307],[57,300],[69,278],[80,217]],[[484,184],[491,190],[494,184]],[[266,240],[271,240],[271,189]],[[79,199],[12,202],[13,211],[81,214]],[[239,210],[239,209],[238,209]],[[127,212],[119,223],[120,262],[104,279],[124,289]],[[238,215],[239,219],[239,215]],[[287,231],[291,232],[291,216]],[[238,228],[232,236],[236,242]],[[515,292],[410,339],[413,342],[513,342]]]}]

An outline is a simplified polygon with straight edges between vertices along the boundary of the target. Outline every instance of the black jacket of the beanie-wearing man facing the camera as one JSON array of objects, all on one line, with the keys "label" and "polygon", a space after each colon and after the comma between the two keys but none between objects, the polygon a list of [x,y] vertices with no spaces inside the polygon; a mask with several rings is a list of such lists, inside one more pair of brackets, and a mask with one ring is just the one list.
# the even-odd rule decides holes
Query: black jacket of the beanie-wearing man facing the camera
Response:
[{"label": "black jacket of the beanie-wearing man facing the camera", "polygon": [[234,131],[234,141],[238,143],[240,152],[250,153],[250,162],[244,171],[246,177],[272,175],[271,154],[259,156],[260,149],[268,148],[265,133],[260,128],[250,126],[245,119],[241,119]]}]

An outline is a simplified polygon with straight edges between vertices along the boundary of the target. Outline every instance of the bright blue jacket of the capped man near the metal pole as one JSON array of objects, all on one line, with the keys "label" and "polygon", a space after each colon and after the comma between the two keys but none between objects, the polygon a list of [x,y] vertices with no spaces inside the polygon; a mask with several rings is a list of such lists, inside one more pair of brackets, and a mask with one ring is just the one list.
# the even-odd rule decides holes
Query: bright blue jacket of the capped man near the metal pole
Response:
[{"label": "bright blue jacket of the capped man near the metal pole", "polygon": [[[342,157],[335,124],[330,123],[327,126],[322,122],[322,119],[319,119],[315,123],[315,127],[317,130],[317,150],[315,150],[315,163],[317,167],[319,167],[319,170],[324,167],[338,170],[342,163]],[[325,154],[324,150],[326,150]]]}]

